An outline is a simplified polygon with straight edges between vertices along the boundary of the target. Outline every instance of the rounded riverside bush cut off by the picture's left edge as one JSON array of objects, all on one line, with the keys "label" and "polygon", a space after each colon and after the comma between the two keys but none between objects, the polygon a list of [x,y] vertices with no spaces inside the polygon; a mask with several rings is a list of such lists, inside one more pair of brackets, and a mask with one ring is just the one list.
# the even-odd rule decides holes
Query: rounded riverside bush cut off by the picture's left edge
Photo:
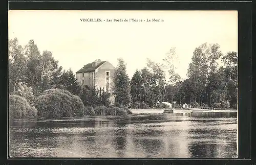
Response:
[{"label": "rounded riverside bush cut off by the picture's left edge", "polygon": [[10,119],[25,119],[36,117],[37,110],[28,101],[17,95],[9,96]]}]

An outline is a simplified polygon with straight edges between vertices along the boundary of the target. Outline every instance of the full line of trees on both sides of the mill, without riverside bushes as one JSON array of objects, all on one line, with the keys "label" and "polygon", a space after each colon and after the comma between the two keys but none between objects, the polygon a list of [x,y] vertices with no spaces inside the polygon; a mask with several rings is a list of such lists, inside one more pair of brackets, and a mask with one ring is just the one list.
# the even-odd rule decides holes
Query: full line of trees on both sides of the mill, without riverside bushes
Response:
[{"label": "full line of trees on both sides of the mill, without riverside bushes", "polygon": [[[237,108],[237,59],[236,52],[223,55],[220,45],[203,43],[193,52],[187,78],[182,80],[175,65],[178,56],[172,48],[161,63],[147,59],[145,67],[136,70],[130,80],[124,60],[119,58],[113,77],[115,106],[158,108],[163,101],[176,101],[193,107]],[[110,106],[109,92],[81,88],[72,70],[63,70],[52,53],[40,52],[33,40],[25,46],[20,45],[17,38],[9,40],[8,62],[10,95],[25,98],[32,107],[35,98],[50,89],[69,91],[78,96],[85,107]]]}]

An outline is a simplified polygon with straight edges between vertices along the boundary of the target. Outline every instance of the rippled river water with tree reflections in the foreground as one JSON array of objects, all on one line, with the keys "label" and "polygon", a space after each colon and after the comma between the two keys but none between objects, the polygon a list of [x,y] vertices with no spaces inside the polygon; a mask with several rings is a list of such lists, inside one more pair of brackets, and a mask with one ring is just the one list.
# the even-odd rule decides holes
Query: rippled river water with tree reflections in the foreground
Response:
[{"label": "rippled river water with tree reflections in the foreground", "polygon": [[11,120],[11,157],[231,158],[237,112]]}]

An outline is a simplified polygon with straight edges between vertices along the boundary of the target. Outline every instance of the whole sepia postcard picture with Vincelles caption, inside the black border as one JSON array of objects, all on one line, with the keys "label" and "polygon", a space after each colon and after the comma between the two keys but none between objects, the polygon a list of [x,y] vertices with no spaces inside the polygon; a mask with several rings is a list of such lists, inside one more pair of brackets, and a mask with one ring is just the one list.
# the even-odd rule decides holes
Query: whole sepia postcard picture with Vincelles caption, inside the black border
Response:
[{"label": "whole sepia postcard picture with Vincelles caption, inside the black border", "polygon": [[238,11],[9,10],[10,158],[238,158]]}]

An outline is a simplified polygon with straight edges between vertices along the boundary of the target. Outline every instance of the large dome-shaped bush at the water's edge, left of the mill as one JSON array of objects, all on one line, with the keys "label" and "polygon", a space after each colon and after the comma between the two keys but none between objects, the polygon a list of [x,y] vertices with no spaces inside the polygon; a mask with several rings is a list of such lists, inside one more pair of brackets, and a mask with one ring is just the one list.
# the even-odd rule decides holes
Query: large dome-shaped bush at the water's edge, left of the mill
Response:
[{"label": "large dome-shaped bush at the water's edge, left of the mill", "polygon": [[68,90],[48,89],[36,98],[39,117],[58,118],[83,115],[84,106],[78,96]]}]

